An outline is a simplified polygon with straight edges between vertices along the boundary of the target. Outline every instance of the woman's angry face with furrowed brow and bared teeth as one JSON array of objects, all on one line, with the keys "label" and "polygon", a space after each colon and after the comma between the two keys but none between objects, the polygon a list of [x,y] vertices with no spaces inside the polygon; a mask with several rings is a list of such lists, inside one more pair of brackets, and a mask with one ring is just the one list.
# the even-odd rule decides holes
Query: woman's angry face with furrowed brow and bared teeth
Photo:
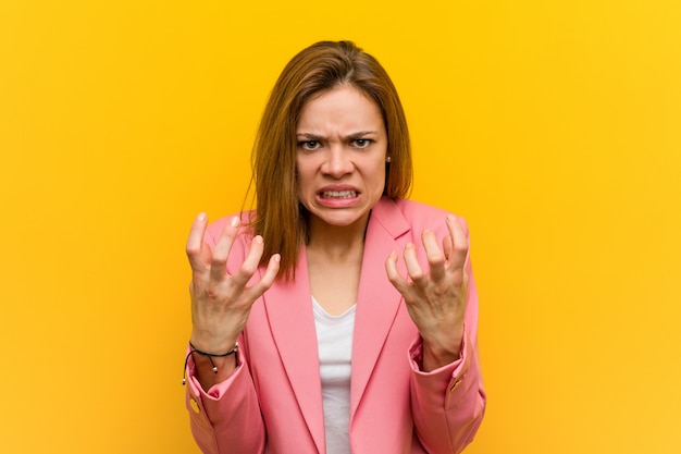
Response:
[{"label": "woman's angry face with furrowed brow and bared teeth", "polygon": [[387,136],[376,103],[342,85],[309,100],[296,130],[298,198],[311,228],[364,223],[383,195]]}]

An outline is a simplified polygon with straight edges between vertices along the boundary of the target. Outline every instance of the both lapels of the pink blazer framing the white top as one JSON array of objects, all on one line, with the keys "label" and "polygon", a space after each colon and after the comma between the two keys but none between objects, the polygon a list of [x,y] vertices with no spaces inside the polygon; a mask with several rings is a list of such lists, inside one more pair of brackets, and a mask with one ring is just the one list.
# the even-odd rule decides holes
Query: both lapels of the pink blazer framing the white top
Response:
[{"label": "both lapels of the pink blazer framing the white top", "polygon": [[[400,307],[401,295],[387,280],[385,260],[393,250],[404,248],[403,243],[407,242],[404,234],[409,230],[409,223],[395,201],[384,197],[372,209],[367,225],[352,341],[351,414],[361,401]],[[404,273],[403,266],[399,268]],[[265,292],[263,300],[288,382],[314,443],[323,452],[319,353],[305,247],[296,266],[295,283],[277,280]]]}]

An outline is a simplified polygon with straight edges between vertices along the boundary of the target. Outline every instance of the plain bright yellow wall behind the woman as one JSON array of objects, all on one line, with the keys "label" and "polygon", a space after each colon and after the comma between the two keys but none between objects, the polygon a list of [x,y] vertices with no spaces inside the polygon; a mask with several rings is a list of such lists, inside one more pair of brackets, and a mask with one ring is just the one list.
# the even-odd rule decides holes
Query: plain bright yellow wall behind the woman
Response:
[{"label": "plain bright yellow wall behind the woman", "polygon": [[472,228],[468,453],[681,452],[680,5],[0,1],[0,452],[198,452],[185,236],[240,207],[283,64],[342,38],[400,90],[413,198]]}]

